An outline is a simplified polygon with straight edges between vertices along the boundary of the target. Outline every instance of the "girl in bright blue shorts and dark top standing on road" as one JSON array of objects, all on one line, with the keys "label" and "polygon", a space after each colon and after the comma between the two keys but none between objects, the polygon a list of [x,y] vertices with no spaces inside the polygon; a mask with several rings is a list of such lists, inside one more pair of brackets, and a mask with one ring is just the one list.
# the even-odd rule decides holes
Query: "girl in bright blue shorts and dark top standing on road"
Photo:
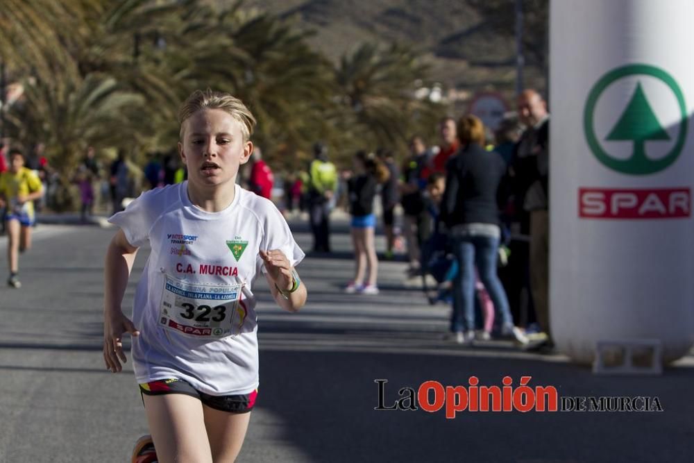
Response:
[{"label": "girl in bright blue shorts and dark top standing on road", "polygon": [[[373,199],[379,183],[388,180],[387,167],[373,155],[359,151],[354,157],[354,175],[346,174],[349,210],[352,216],[350,234],[354,246],[355,273],[345,292],[353,294],[378,294],[378,257],[374,242],[376,218],[373,215]],[[369,278],[366,278],[366,270]]]}]

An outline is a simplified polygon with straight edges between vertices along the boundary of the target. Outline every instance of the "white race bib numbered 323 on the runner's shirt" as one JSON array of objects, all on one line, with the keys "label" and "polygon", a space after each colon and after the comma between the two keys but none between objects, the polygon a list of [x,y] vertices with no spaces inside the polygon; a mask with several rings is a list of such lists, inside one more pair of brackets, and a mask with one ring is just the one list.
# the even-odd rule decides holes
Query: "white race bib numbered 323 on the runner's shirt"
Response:
[{"label": "white race bib numbered 323 on the runner's shirt", "polygon": [[159,324],[167,330],[198,339],[232,335],[241,289],[240,284],[202,285],[167,275]]}]

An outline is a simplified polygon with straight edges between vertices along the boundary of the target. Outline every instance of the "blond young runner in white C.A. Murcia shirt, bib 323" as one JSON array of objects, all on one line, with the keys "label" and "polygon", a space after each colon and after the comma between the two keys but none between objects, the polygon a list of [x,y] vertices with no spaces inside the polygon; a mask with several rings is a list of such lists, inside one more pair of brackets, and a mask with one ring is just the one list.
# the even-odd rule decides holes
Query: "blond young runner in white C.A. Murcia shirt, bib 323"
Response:
[{"label": "blond young runner in white C.A. Murcia shirt, bib 323", "polygon": [[[275,205],[236,184],[253,152],[244,103],[198,90],[179,120],[188,180],[145,192],[109,219],[120,229],[105,260],[103,357],[121,371],[123,335],[133,336],[151,431],[133,462],[231,462],[258,387],[253,283],[262,274],[276,303],[296,312],[307,296],[294,268],[304,253]],[[130,320],[121,301],[145,244]]]}]

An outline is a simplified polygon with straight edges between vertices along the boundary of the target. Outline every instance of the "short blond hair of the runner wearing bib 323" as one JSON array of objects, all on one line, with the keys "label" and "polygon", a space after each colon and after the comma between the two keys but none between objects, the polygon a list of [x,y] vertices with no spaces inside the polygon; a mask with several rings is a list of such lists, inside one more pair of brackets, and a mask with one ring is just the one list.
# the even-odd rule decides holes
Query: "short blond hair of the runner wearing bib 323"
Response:
[{"label": "short blond hair of the runner wearing bib 323", "polygon": [[244,102],[224,92],[208,90],[196,90],[185,100],[178,110],[178,122],[180,123],[179,137],[183,140],[183,123],[200,110],[219,109],[227,112],[231,117],[241,123],[241,131],[244,134],[244,142],[250,140],[255,127],[255,117]]}]

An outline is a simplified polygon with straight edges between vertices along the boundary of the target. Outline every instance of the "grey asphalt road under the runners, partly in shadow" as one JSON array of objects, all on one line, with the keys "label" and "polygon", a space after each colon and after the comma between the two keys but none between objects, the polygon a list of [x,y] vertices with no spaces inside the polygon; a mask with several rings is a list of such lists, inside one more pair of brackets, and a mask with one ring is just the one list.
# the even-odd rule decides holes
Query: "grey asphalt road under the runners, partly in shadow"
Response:
[{"label": "grey asphalt road under the runners, partly in shadow", "polygon": [[[346,226],[330,256],[300,267],[310,302],[298,314],[260,303],[260,394],[239,462],[691,462],[694,356],[659,377],[594,376],[561,355],[509,343],[441,341],[448,308],[383,262],[378,296],[341,294],[352,262]],[[304,248],[305,226],[294,227]],[[0,286],[0,462],[127,462],[147,433],[135,378],[101,358],[103,254],[112,229],[41,225],[22,255],[22,289]],[[382,241],[379,239],[379,246]],[[6,238],[0,237],[5,278]],[[125,306],[132,302],[138,256]],[[532,376],[561,397],[657,397],[663,412],[374,410],[422,382],[501,386]],[[407,392],[403,392],[407,395]],[[403,402],[403,405],[409,405]]]}]

